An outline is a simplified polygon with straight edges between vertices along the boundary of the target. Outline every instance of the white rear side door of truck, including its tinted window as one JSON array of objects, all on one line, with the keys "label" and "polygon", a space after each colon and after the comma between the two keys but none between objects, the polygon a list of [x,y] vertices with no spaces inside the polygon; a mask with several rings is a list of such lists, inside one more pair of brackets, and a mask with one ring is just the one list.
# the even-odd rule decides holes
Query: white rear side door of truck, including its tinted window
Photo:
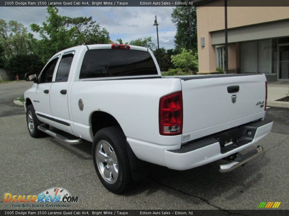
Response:
[{"label": "white rear side door of truck, including its tinted window", "polygon": [[68,90],[70,82],[70,69],[75,51],[68,51],[61,56],[58,65],[55,82],[50,88],[50,104],[53,120],[56,128],[73,134],[70,125],[70,116],[68,111]]}]

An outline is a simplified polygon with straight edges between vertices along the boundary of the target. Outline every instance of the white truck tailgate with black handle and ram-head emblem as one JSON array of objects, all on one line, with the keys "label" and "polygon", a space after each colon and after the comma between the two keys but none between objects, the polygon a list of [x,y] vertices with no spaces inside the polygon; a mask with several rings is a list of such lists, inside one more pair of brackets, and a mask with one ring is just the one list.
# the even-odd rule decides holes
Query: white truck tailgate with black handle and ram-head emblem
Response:
[{"label": "white truck tailgate with black handle and ram-head emblem", "polygon": [[265,116],[264,74],[179,77],[183,97],[182,143]]}]

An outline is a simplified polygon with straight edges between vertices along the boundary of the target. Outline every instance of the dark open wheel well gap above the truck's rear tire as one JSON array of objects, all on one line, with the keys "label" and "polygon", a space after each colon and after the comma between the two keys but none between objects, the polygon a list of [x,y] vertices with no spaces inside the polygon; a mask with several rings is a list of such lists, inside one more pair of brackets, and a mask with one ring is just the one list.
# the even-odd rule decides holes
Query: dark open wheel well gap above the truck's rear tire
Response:
[{"label": "dark open wheel well gap above the truck's rear tire", "polygon": [[97,131],[102,128],[107,128],[111,126],[120,127],[120,124],[112,115],[101,111],[95,111],[94,113],[92,113],[91,125],[93,136],[96,134]]}]

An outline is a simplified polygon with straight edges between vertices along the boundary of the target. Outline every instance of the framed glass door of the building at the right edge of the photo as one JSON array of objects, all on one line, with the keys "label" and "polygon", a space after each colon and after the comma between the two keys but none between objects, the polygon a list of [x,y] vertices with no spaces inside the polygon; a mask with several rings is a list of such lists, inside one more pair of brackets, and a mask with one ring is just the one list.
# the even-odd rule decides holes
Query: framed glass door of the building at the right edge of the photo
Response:
[{"label": "framed glass door of the building at the right edge of the photo", "polygon": [[289,44],[279,45],[278,80],[289,80]]}]

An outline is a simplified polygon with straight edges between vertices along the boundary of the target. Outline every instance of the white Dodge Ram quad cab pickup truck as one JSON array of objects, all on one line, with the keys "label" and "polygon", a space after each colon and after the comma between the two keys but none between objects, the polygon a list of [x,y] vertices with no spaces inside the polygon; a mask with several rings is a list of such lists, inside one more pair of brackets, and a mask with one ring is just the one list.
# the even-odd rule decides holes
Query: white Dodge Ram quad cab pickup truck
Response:
[{"label": "white Dodge Ram quad cab pickup truck", "polygon": [[98,177],[114,193],[140,178],[146,162],[187,170],[227,159],[219,170],[233,170],[263,151],[238,153],[273,124],[264,119],[264,74],[162,77],[139,46],[72,47],[25,79],[34,81],[24,94],[30,135],[92,142]]}]

